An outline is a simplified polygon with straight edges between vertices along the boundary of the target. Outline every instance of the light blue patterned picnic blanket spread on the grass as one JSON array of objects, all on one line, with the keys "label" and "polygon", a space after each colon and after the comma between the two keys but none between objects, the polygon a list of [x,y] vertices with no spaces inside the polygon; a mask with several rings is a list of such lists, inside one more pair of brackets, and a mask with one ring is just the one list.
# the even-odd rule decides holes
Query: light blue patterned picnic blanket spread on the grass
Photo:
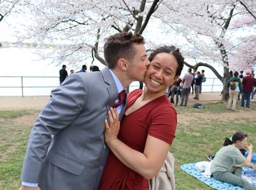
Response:
[{"label": "light blue patterned picnic blanket spread on the grass", "polygon": [[230,183],[224,183],[222,181],[218,181],[218,180],[214,179],[213,177],[210,177],[210,178],[204,177],[202,175],[203,172],[201,172],[195,168],[195,164],[196,163],[183,164],[183,165],[181,165],[181,169],[214,189],[243,190],[243,188],[241,188],[241,187],[232,185]]}]

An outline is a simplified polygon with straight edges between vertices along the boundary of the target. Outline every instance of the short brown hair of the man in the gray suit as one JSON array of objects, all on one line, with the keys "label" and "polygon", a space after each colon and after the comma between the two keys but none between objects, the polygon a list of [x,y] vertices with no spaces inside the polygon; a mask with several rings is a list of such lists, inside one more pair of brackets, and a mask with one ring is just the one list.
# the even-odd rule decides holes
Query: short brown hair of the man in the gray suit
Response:
[{"label": "short brown hair of the man in the gray suit", "polygon": [[117,61],[121,58],[132,61],[136,53],[133,44],[144,44],[143,36],[131,32],[119,32],[108,37],[104,44],[104,57],[108,67],[115,69]]}]

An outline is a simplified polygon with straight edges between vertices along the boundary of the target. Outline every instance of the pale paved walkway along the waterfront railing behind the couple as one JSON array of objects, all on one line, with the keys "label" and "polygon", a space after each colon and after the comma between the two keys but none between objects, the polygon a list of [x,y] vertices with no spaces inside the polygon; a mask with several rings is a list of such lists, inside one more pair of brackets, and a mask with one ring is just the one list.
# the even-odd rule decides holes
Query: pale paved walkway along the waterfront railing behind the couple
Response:
[{"label": "pale paved walkway along the waterfront railing behind the couple", "polygon": [[[218,102],[221,100],[220,92],[203,92],[200,100],[193,100],[193,95],[189,96],[189,105],[200,102]],[[49,101],[49,96],[0,96],[0,110],[20,110],[20,109],[42,109]],[[179,98],[180,102],[180,98]]]}]

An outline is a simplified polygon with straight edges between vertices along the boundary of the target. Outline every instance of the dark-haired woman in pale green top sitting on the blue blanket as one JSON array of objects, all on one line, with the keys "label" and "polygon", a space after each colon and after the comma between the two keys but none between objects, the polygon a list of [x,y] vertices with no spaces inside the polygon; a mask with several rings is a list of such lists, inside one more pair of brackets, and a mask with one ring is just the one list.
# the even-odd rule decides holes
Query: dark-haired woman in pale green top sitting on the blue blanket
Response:
[{"label": "dark-haired woman in pale green top sitting on the blue blanket", "polygon": [[[211,171],[213,177],[219,181],[238,185],[245,190],[256,190],[256,186],[241,178],[243,167],[255,167],[251,164],[253,145],[247,143],[247,137],[247,134],[237,132],[230,139],[225,138],[223,147],[212,160]],[[248,149],[247,158],[241,154],[239,148]]]}]

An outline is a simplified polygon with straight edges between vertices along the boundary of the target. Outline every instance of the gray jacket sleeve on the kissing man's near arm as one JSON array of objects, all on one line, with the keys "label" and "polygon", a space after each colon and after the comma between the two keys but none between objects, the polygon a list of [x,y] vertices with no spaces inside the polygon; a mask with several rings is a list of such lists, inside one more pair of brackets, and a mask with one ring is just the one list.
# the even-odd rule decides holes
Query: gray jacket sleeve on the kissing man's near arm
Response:
[{"label": "gray jacket sleeve on the kissing man's near arm", "polygon": [[21,179],[37,183],[42,162],[55,135],[75,121],[86,104],[86,81],[81,75],[71,75],[55,90],[42,110],[30,134]]}]

